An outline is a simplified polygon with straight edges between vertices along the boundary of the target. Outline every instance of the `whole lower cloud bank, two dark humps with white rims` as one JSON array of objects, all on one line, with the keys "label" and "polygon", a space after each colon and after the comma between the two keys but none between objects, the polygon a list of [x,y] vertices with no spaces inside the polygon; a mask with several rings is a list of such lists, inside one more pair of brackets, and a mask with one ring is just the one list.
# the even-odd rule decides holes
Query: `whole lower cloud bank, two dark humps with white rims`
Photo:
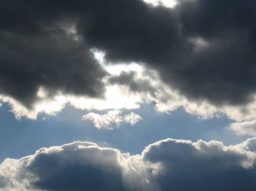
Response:
[{"label": "whole lower cloud bank, two dark humps with white rims", "polygon": [[89,142],[42,148],[1,163],[0,190],[249,191],[256,186],[255,140],[225,147],[166,139],[133,156]]}]

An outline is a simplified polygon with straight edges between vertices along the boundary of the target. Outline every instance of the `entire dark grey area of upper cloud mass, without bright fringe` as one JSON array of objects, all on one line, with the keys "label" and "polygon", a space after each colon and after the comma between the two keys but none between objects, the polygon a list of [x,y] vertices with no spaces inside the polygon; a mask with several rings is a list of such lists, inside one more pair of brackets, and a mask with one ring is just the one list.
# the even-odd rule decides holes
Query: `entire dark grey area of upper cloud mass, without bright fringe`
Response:
[{"label": "entire dark grey area of upper cloud mass, without bright fringe", "polygon": [[[100,96],[106,73],[91,58],[97,48],[111,62],[148,64],[189,99],[251,101],[256,2],[178,3],[170,9],[141,0],[1,1],[1,92],[27,106],[39,86]],[[67,36],[59,21],[75,23],[82,40]],[[196,38],[208,45],[196,48]]]}]

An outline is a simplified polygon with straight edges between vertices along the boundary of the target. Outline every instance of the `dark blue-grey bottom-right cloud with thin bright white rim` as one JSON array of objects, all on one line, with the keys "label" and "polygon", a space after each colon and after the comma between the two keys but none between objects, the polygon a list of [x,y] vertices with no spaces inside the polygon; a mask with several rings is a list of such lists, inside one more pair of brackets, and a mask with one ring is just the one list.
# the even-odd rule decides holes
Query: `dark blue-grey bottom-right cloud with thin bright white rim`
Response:
[{"label": "dark blue-grey bottom-right cloud with thin bright white rim", "polygon": [[218,141],[167,139],[149,145],[142,156],[144,161],[160,165],[158,173],[152,173],[160,190],[203,191],[253,190],[255,154]]}]

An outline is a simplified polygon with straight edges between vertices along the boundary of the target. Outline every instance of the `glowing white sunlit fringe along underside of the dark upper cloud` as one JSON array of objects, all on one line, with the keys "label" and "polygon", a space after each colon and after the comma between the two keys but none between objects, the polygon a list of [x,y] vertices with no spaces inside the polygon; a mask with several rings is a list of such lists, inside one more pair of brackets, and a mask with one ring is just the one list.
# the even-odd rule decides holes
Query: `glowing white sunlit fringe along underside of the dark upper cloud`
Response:
[{"label": "glowing white sunlit fringe along underside of the dark upper cloud", "polygon": [[[28,110],[18,101],[7,96],[0,96],[0,101],[9,103],[10,111],[14,113],[18,120],[22,117],[36,119],[38,113],[56,115],[66,104],[87,111],[92,109],[98,111],[107,109],[121,111],[122,109],[139,109],[141,103],[149,104],[154,102],[155,110],[163,113],[170,113],[179,107],[183,107],[187,113],[196,115],[200,119],[222,118],[226,116],[238,122],[237,125],[233,124],[232,128],[229,128],[230,130],[236,131],[238,135],[254,134],[254,129],[251,128],[250,131],[245,130],[245,128],[241,128],[239,122],[250,123],[251,120],[255,120],[256,101],[248,103],[245,108],[244,106],[225,104],[216,106],[207,100],[188,100],[177,90],[165,84],[156,71],[148,70],[145,66],[137,63],[123,63],[113,66],[111,63],[105,63],[103,52],[93,50],[93,53],[101,66],[111,74],[103,78],[106,88],[104,98],[74,96],[63,94],[60,91],[55,96],[48,97],[47,89],[41,87],[37,93],[39,100],[34,103],[31,110]],[[129,79],[132,81],[125,81],[127,84],[112,83],[110,81],[113,77],[118,78],[124,74],[130,74],[130,72],[133,72],[132,79]],[[131,90],[129,83],[138,84],[140,88],[144,89]],[[254,100],[256,100],[256,95]],[[128,117],[124,119],[131,124],[133,122],[135,124],[138,122],[137,120],[140,120],[140,118],[132,120],[133,118],[128,119]],[[101,126],[97,125],[98,128]]]}]

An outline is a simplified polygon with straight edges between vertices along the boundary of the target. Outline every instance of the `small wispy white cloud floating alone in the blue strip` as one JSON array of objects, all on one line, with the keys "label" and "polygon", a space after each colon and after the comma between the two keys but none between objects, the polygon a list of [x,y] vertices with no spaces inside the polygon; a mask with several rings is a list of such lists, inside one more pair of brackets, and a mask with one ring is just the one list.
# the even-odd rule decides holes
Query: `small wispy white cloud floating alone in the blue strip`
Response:
[{"label": "small wispy white cloud floating alone in the blue strip", "polygon": [[[134,112],[125,115],[124,118],[120,115],[121,113],[122,111],[120,110],[108,111],[106,114],[103,115],[90,112],[83,115],[82,120],[92,121],[94,123],[94,127],[98,129],[113,129],[118,128],[124,121],[126,123],[131,123],[132,125],[135,125],[139,120],[142,119],[140,115],[135,114]],[[115,126],[112,126],[113,124],[115,124]]]}]

